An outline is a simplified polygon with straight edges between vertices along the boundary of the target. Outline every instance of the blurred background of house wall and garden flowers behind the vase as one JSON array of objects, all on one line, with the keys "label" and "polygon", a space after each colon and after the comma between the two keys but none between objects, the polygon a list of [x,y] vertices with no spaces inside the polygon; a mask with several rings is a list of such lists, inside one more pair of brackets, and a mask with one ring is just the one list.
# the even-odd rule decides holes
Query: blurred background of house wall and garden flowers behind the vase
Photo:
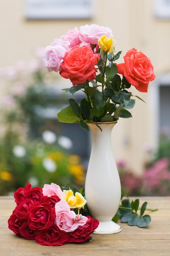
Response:
[{"label": "blurred background of house wall and garden flowers behind the vase", "polygon": [[[90,4],[86,15],[70,17],[63,0],[68,11],[63,18],[30,18],[24,12],[29,2],[10,2],[9,10],[7,0],[0,17],[0,195],[13,195],[27,182],[32,186],[51,182],[84,186],[91,134],[79,124],[58,122],[57,112],[71,97],[62,88],[71,84],[47,72],[42,49],[69,29],[93,23],[113,29],[116,50],[123,50],[122,56],[132,47],[145,52],[157,76],[147,95],[138,94],[147,104],[137,102],[132,119],[119,120],[114,128],[113,150],[122,189],[135,196],[170,195],[168,14],[158,17],[154,0],[106,0],[105,4],[91,0],[80,1],[82,6]],[[167,4],[170,8],[170,1]]]}]

